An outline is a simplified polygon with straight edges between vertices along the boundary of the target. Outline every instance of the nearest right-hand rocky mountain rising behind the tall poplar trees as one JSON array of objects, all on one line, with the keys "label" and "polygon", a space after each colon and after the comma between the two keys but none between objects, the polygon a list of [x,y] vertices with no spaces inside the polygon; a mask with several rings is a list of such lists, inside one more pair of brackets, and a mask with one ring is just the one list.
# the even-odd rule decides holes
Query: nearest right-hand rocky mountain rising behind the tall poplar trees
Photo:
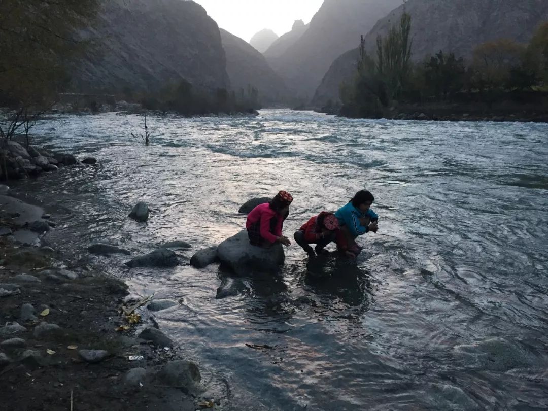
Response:
[{"label": "nearest right-hand rocky mountain rising behind the tall poplar trees", "polygon": [[[527,42],[540,22],[548,20],[546,0],[408,0],[412,16],[413,60],[419,61],[439,50],[469,57],[477,44],[498,38]],[[366,36],[374,53],[376,38],[397,24],[404,7],[398,7],[373,27]],[[339,99],[339,84],[356,72],[358,49],[336,59],[316,90],[316,107]]]}]

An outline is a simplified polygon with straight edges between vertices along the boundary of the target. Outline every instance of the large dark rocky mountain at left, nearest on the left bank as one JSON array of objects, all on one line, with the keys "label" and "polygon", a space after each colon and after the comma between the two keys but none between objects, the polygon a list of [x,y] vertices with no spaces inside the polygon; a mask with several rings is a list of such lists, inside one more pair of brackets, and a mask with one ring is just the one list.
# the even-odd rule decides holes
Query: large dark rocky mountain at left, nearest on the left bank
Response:
[{"label": "large dark rocky mountain at left, nearest on the left bank", "polygon": [[84,36],[98,42],[73,70],[72,90],[119,93],[187,81],[229,88],[219,27],[201,5],[181,0],[110,0]]}]

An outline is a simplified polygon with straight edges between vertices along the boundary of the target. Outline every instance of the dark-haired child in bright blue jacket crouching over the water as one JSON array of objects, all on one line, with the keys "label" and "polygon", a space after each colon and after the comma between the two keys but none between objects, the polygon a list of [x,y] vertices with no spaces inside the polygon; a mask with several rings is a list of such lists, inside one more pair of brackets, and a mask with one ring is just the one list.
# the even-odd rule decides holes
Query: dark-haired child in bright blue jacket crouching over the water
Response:
[{"label": "dark-haired child in bright blue jacket crouching over the water", "polygon": [[375,197],[372,193],[361,190],[346,206],[335,212],[340,225],[337,243],[341,251],[346,252],[347,255],[357,255],[361,252],[362,248],[356,244],[358,236],[363,236],[369,231],[377,232],[379,216],[370,209],[374,201]]}]

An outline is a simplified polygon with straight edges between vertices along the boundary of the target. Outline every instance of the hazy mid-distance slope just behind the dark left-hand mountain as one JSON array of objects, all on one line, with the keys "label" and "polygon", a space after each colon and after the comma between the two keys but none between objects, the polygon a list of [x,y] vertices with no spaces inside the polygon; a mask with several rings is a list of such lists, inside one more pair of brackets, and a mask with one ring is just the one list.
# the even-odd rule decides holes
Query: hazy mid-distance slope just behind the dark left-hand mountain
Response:
[{"label": "hazy mid-distance slope just behind the dark left-hand mountain", "polygon": [[259,90],[259,100],[263,105],[277,104],[287,99],[286,85],[261,53],[222,28],[221,39],[226,53],[226,70],[232,89],[237,94],[252,85]]}]

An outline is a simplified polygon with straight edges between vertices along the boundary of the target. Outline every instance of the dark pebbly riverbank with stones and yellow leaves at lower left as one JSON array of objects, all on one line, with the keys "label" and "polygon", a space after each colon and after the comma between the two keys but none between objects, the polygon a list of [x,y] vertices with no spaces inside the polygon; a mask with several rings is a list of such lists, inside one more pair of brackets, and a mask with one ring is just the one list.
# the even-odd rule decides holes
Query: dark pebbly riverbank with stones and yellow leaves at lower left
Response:
[{"label": "dark pebbly riverbank with stones and yellow leaves at lower left", "polygon": [[42,237],[55,216],[0,188],[2,409],[222,409],[150,316],[176,302],[64,261]]}]

